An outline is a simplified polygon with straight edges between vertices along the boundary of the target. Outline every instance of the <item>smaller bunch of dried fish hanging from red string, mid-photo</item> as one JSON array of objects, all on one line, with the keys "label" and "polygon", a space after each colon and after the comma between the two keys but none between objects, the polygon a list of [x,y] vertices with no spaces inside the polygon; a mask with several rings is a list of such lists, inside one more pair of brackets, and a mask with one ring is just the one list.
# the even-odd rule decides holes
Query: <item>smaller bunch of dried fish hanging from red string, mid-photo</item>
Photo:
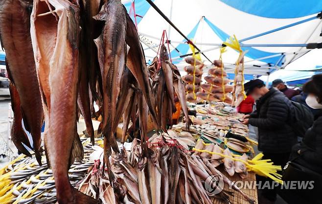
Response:
[{"label": "smaller bunch of dried fish hanging from red string, mid-photo", "polygon": [[[161,67],[155,69],[158,65],[158,58],[155,58],[154,63],[149,67],[149,70],[155,70],[152,75],[153,89],[157,101],[158,121],[161,128],[167,132],[167,124],[172,126],[172,113],[176,112],[174,96],[178,96],[184,115],[188,117],[188,107],[185,100],[184,83],[182,81],[178,68],[169,60],[169,55],[165,45],[160,47],[160,64]],[[186,121],[188,128],[190,121]]]}]

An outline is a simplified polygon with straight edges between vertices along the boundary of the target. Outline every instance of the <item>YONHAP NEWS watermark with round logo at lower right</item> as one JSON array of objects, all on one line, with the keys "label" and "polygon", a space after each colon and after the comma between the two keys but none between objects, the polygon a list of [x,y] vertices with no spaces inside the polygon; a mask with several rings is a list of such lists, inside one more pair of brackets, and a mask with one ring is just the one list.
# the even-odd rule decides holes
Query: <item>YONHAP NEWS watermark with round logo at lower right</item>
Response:
[{"label": "YONHAP NEWS watermark with round logo at lower right", "polygon": [[[311,190],[314,188],[314,181],[283,181],[280,184],[276,181],[231,181],[229,189],[286,189],[286,190]],[[224,189],[224,181],[221,175],[210,176],[205,181],[207,193],[211,196],[220,193]]]}]

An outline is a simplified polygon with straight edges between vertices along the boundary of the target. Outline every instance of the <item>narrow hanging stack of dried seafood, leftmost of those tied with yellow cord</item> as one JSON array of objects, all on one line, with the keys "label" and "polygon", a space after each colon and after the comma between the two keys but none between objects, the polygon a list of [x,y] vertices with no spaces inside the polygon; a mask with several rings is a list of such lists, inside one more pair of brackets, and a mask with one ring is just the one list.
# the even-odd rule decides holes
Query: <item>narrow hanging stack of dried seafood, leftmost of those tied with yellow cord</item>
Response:
[{"label": "narrow hanging stack of dried seafood, leftmost of those tied with yellow cord", "polygon": [[184,67],[184,71],[188,74],[182,77],[187,84],[185,85],[185,91],[187,92],[186,99],[189,102],[199,103],[202,99],[197,97],[196,93],[200,91],[204,64],[196,59],[196,57],[187,57],[185,58],[185,62],[190,64],[189,66]]}]

